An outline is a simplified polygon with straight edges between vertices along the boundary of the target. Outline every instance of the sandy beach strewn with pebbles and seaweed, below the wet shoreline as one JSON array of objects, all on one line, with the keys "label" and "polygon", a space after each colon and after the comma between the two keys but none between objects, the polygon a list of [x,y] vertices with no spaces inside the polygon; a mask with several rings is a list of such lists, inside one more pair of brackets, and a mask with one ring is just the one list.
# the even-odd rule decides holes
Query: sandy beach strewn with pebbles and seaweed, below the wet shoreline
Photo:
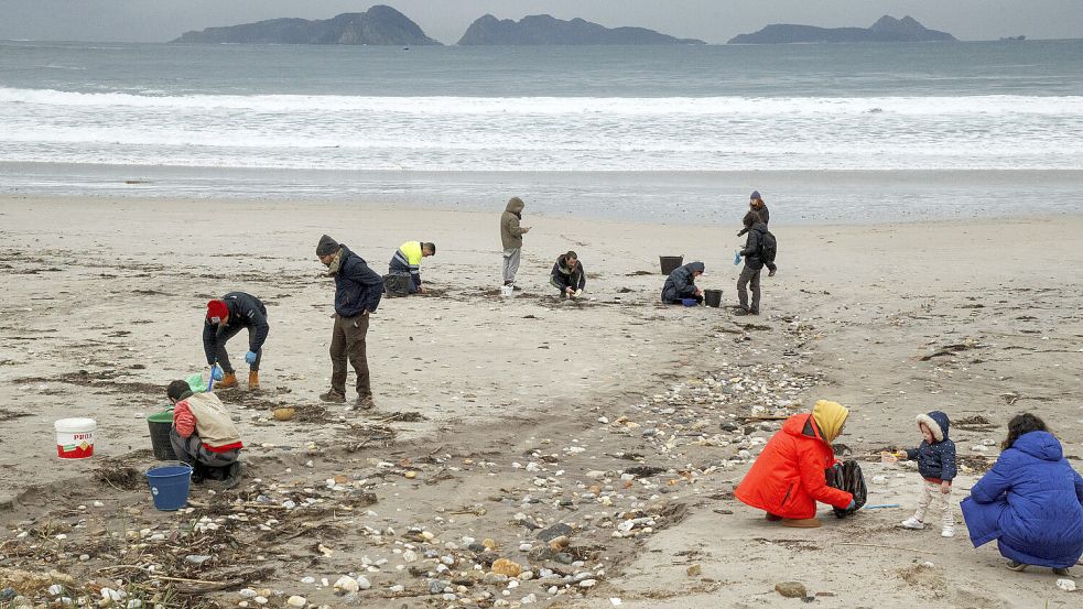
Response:
[{"label": "sandy beach strewn with pebbles and seaweed, below the wet shoreline", "polygon": [[[945,411],[957,502],[1030,411],[1080,469],[1083,216],[816,226],[772,207],[780,271],[763,314],[743,317],[743,209],[729,225],[636,224],[537,216],[521,195],[533,229],[515,298],[497,290],[503,195],[491,213],[0,198],[0,584],[40,599],[51,584],[123,588],[164,607],[258,606],[247,589],[267,607],[799,603],[780,581],[825,608],[1080,602],[1048,569],[974,550],[957,512],[955,539],[896,529],[920,478],[879,452],[916,446],[914,415]],[[403,241],[438,246],[430,293],[385,298],[372,318],[371,412],[317,399],[334,297],[323,233],[380,273]],[[575,303],[548,283],[568,249],[588,276]],[[670,254],[705,262],[698,283],[724,290],[724,307],[661,305]],[[220,393],[246,478],[155,511],[145,415],[203,369],[206,301],[235,290],[271,325],[263,390]],[[851,409],[840,442],[869,503],[901,507],[822,508],[822,529],[781,529],[733,488],[779,418],[821,398]],[[272,420],[279,405],[299,416]],[[97,421],[93,458],[56,458],[53,422],[69,416]],[[495,558],[531,577],[487,576]],[[347,574],[371,587],[336,594]]]}]

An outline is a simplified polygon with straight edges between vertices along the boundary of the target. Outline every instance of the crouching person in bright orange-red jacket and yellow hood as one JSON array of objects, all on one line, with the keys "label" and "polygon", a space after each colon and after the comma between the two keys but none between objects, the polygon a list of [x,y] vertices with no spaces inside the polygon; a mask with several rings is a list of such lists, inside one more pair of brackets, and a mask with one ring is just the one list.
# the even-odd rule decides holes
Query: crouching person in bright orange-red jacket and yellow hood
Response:
[{"label": "crouching person in bright orange-red jacket and yellow hood", "polygon": [[827,486],[824,470],[835,464],[831,443],[843,433],[849,411],[820,400],[812,414],[794,414],[771,436],[734,494],[783,526],[820,526],[816,501],[854,505],[854,496]]}]

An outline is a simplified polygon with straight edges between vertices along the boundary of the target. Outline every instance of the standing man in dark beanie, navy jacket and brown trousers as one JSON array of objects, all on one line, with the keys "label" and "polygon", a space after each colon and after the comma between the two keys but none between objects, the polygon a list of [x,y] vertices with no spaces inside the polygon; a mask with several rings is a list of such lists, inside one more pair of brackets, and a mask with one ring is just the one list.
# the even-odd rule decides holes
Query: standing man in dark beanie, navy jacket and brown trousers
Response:
[{"label": "standing man in dark beanie, navy jacket and brown trousers", "polygon": [[326,235],[316,244],[316,255],[327,267],[327,275],[335,278],[331,391],[321,394],[320,399],[324,402],[346,401],[346,361],[349,360],[357,374],[356,405],[371,409],[376,403],[369,382],[365,336],[368,334],[369,314],[376,312],[383,295],[383,278],[369,269],[361,257]]}]

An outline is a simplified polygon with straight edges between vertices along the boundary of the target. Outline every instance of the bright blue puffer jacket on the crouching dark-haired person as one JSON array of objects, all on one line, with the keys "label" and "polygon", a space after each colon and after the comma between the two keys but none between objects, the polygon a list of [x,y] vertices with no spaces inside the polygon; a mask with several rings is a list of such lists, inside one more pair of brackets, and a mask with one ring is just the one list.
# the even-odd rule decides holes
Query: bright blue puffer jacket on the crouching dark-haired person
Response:
[{"label": "bright blue puffer jacket on the crouching dark-haired person", "polygon": [[1083,556],[1083,478],[1049,432],[1019,436],[962,508],[975,547],[998,540],[1006,558],[1052,568]]}]

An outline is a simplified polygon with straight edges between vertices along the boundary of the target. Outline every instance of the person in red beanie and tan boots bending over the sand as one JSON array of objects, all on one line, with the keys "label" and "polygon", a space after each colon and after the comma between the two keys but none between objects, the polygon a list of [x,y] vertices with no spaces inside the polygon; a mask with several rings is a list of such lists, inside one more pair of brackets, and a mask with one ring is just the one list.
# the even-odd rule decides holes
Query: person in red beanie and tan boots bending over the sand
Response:
[{"label": "person in red beanie and tan boots bending over the sand", "polygon": [[207,303],[207,317],[203,325],[203,350],[207,363],[221,366],[226,376],[215,383],[215,389],[237,387],[237,374],[226,354],[226,341],[248,328],[248,389],[260,387],[260,360],[263,359],[263,341],[267,340],[267,307],[259,298],[243,292],[230,292],[217,301]]}]

